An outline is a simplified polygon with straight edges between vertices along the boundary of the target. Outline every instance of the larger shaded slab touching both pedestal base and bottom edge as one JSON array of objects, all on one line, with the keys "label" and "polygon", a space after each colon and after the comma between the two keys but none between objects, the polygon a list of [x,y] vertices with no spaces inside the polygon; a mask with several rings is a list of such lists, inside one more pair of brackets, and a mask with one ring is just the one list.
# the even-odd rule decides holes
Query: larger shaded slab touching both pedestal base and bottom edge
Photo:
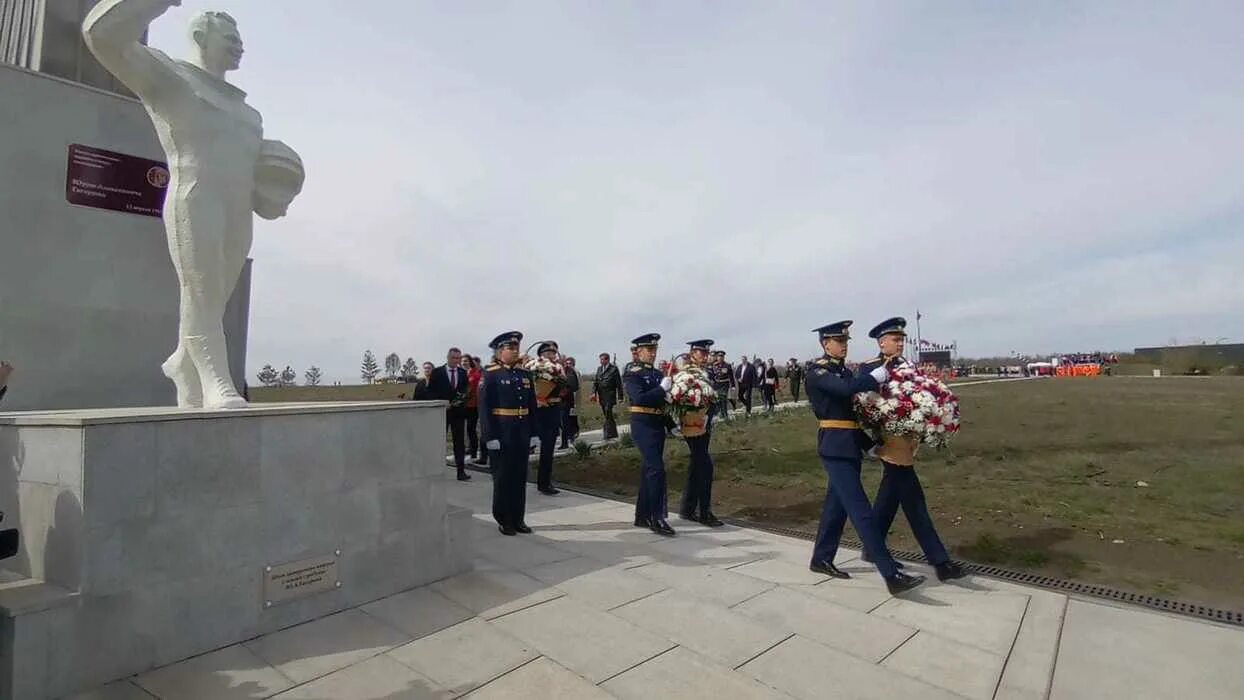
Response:
[{"label": "larger shaded slab touching both pedestal base and bottom edge", "polygon": [[295,685],[241,644],[142,674],[134,684],[168,700],[250,700]]}]

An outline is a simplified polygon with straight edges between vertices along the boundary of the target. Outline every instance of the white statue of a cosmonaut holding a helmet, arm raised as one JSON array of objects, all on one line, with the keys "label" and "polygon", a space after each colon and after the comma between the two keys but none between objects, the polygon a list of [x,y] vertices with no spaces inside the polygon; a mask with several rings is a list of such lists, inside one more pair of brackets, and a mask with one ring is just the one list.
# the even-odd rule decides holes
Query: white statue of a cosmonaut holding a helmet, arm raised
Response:
[{"label": "white statue of a cosmonaut holding a helmet, arm raised", "polygon": [[177,385],[177,404],[244,408],[229,374],[225,305],[250,252],[251,213],[285,215],[302,189],[302,160],[284,143],[264,139],[259,112],[225,81],[243,55],[233,17],[203,12],[190,22],[190,61],[142,44],[148,25],[180,4],[103,0],[82,34],[100,62],[142,99],[168,157],[164,228],[182,306],[177,349],[162,368]]}]

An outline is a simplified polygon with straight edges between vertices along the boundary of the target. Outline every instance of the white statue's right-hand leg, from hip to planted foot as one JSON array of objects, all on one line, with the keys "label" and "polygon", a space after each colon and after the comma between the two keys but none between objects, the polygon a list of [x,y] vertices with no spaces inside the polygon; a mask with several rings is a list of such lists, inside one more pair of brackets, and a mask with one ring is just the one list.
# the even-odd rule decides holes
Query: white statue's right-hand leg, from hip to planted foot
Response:
[{"label": "white statue's right-hand leg, from hip to planted foot", "polygon": [[233,290],[238,271],[225,282],[230,275],[225,255],[229,216],[219,193],[188,193],[175,206],[172,223],[169,252],[182,287],[179,346],[198,371],[203,408],[245,408],[246,400],[229,375],[223,323],[229,292],[224,290]]}]

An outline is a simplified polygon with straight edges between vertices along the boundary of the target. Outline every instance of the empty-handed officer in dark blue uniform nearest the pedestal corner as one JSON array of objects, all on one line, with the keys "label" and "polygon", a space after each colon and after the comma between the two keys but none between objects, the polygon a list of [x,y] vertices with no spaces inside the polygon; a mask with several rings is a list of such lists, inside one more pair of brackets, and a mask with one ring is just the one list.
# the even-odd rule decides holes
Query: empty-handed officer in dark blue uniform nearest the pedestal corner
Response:
[{"label": "empty-handed officer in dark blue uniform nearest the pedestal corner", "polygon": [[536,394],[531,373],[519,364],[522,333],[510,331],[488,347],[494,362],[484,369],[479,388],[479,414],[484,418],[484,444],[493,465],[493,518],[501,535],[530,533],[526,518],[527,454]]}]

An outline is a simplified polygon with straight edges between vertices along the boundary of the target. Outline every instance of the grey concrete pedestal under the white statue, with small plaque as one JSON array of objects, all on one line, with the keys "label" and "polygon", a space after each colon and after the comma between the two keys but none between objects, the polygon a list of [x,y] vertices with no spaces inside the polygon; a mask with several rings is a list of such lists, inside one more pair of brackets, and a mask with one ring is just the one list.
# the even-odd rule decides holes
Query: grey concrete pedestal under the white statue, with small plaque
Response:
[{"label": "grey concrete pedestal under the white statue, with small plaque", "polygon": [[[22,535],[0,562],[0,696],[58,698],[460,573],[470,513],[445,475],[439,402],[0,414],[0,510]],[[272,569],[315,562],[327,579],[274,596]]]}]

